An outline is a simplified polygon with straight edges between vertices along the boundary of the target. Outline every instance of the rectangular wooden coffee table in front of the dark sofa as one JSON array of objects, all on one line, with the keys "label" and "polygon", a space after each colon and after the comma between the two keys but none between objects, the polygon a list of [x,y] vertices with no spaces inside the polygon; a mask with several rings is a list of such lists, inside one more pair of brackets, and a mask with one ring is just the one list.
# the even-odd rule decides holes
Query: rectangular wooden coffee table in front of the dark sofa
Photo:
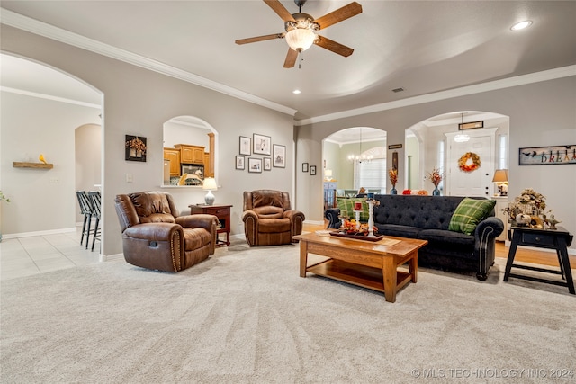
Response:
[{"label": "rectangular wooden coffee table in front of the dark sofa", "polygon": [[[418,250],[428,241],[384,237],[372,242],[360,239],[320,236],[315,232],[295,236],[300,240],[300,276],[312,272],[384,292],[386,301],[395,302],[396,293],[409,281],[418,280]],[[390,245],[387,245],[390,244]],[[308,254],[330,257],[308,265]],[[408,263],[409,272],[398,267]]]}]

